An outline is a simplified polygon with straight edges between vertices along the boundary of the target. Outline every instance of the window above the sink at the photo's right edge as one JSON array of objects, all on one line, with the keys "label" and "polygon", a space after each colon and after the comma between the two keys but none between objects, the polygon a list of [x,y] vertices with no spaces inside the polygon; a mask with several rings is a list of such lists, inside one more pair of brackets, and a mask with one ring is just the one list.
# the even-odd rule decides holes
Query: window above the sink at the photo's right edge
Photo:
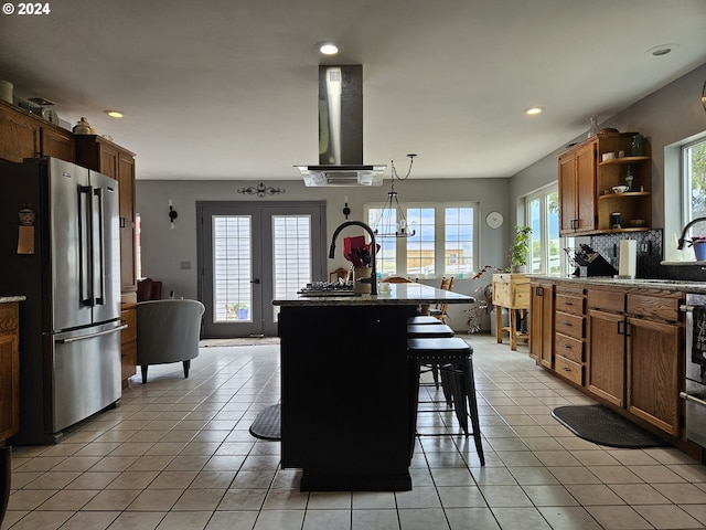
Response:
[{"label": "window above the sink at the photo's right edge", "polygon": [[[682,148],[684,189],[686,208],[683,224],[706,218],[706,140],[687,144]],[[706,225],[694,225],[692,235],[706,235]]]}]

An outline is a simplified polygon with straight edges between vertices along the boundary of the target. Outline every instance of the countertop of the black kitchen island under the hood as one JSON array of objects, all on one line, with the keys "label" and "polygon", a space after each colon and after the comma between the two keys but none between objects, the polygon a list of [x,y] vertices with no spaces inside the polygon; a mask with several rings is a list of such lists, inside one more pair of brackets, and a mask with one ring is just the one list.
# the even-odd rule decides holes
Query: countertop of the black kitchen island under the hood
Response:
[{"label": "countertop of the black kitchen island under the hood", "polygon": [[[389,286],[389,293],[383,290]],[[373,295],[293,295],[272,301],[275,306],[409,306],[420,304],[472,304],[475,298],[424,284],[385,284]]]}]

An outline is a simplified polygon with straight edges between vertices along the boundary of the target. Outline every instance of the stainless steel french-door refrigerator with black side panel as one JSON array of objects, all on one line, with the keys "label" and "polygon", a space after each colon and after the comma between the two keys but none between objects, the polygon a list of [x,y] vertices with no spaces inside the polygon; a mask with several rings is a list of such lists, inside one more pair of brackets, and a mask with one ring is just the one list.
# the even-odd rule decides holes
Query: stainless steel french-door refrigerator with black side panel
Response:
[{"label": "stainless steel french-door refrigerator with black side panel", "polygon": [[0,165],[0,294],[20,304],[20,433],[55,443],[120,399],[118,182],[54,158]]}]

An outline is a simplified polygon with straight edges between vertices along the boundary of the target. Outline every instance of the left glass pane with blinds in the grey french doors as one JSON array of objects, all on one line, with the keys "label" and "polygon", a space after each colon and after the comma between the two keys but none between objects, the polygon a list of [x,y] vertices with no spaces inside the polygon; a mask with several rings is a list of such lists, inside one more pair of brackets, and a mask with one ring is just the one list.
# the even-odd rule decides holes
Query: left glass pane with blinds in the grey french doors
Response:
[{"label": "left glass pane with blinds in the grey french doors", "polygon": [[249,215],[213,215],[213,320],[252,321],[253,244]]}]

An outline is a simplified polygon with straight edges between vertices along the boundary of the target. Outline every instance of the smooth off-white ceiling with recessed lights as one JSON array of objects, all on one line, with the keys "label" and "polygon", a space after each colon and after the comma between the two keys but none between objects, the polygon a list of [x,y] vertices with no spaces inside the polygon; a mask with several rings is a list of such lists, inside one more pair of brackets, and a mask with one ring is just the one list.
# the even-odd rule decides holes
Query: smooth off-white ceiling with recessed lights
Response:
[{"label": "smooth off-white ceiling with recessed lights", "polygon": [[415,152],[420,179],[513,176],[706,63],[704,0],[47,4],[0,18],[0,78],[135,151],[138,179],[300,180],[319,64],[363,65],[363,161]]}]

